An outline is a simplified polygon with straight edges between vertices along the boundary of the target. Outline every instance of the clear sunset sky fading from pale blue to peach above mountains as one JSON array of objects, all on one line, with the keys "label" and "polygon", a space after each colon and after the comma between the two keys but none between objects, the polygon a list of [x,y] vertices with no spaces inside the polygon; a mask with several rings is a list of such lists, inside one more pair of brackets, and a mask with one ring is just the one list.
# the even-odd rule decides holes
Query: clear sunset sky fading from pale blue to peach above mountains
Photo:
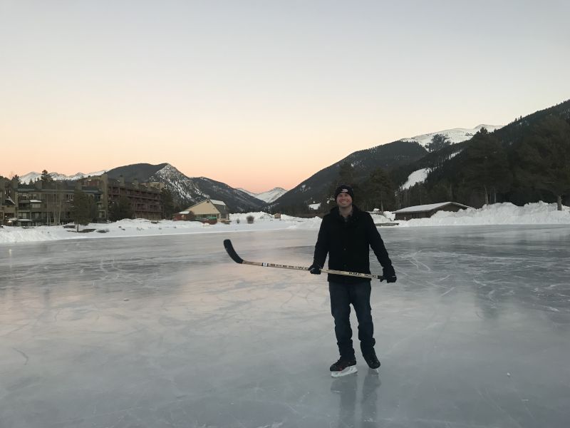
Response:
[{"label": "clear sunset sky fading from pale blue to peach above mountains", "polygon": [[254,192],[570,98],[569,1],[0,0],[0,175],[171,163]]}]

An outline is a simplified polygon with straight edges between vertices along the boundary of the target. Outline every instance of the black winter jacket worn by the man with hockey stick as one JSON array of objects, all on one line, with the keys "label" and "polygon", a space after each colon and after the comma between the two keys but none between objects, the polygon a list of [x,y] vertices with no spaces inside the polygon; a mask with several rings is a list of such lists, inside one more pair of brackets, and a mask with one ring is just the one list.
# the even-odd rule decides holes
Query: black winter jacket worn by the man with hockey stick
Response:
[{"label": "black winter jacket worn by the man with hockey stick", "polygon": [[[313,263],[323,267],[328,253],[329,269],[370,273],[370,247],[384,268],[384,276],[394,275],[392,261],[371,215],[353,205],[352,215],[346,221],[336,207],[323,217]],[[366,280],[370,279],[328,274],[330,282],[355,284]]]}]

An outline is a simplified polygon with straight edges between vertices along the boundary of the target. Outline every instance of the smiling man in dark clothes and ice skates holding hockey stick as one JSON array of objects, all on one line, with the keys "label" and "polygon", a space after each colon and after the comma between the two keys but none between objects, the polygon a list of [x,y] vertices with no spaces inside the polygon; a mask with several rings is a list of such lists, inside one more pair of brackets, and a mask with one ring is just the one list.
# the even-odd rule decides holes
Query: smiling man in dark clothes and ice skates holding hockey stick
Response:
[{"label": "smiling man in dark clothes and ice skates holding hockey stick", "polygon": [[[370,273],[370,247],[383,267],[383,276],[395,282],[396,275],[388,251],[369,213],[353,205],[354,192],[350,185],[340,185],[334,193],[336,206],[323,217],[315,245],[314,261],[309,272],[320,275],[328,253],[328,268],[348,272]],[[333,377],[356,373],[356,358],[352,345],[351,304],[358,319],[358,339],[364,360],[371,369],[380,361],[374,352],[374,326],[371,315],[371,280],[344,275],[328,275],[334,331],[341,357],[331,365]]]}]

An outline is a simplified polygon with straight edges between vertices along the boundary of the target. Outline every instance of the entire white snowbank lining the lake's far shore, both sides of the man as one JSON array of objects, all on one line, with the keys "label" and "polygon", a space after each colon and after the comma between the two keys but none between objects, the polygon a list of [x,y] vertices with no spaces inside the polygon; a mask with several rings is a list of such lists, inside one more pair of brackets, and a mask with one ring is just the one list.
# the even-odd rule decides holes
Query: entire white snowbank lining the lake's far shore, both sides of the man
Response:
[{"label": "entire white snowbank lining the lake's far shore, both sides of the man", "polygon": [[[254,223],[248,224],[247,217],[253,215]],[[371,213],[375,224],[390,223],[394,214],[388,211]],[[19,228],[5,226],[0,229],[0,245],[6,243],[39,242],[46,240],[63,239],[94,239],[118,238],[150,235],[177,235],[186,233],[227,233],[247,232],[253,230],[318,230],[321,219],[299,218],[291,215],[281,215],[281,219],[274,218],[268,213],[242,213],[231,214],[229,225],[218,223],[216,225],[203,225],[195,221],[160,220],[159,222],[136,219],[121,220],[110,224],[90,224],[82,226],[83,229],[95,229],[90,233],[76,233],[75,229],[63,226],[40,226],[37,228]],[[239,220],[239,223],[237,222]],[[517,207],[512,203],[497,203],[486,205],[480,209],[469,208],[457,213],[440,211],[432,218],[415,220],[397,220],[400,227],[418,226],[450,226],[450,225],[507,225],[507,224],[568,224],[570,225],[570,208],[557,211],[555,203],[529,203],[524,207]]]}]

